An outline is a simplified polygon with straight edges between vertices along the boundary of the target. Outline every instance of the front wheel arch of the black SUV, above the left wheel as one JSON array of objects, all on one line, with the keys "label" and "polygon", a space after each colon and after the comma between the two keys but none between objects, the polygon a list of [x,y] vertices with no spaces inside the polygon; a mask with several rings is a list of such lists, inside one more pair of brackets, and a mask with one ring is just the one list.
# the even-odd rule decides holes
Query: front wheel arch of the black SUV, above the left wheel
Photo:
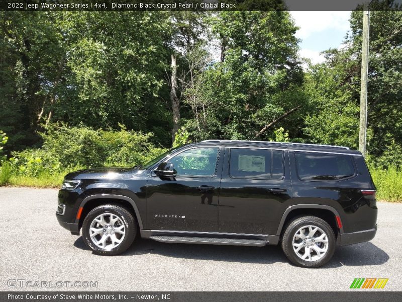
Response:
[{"label": "front wheel arch of the black SUV, above the left wheel", "polygon": [[82,226],[82,221],[85,219],[85,216],[89,213],[90,210],[98,205],[106,204],[108,202],[117,202],[128,207],[128,209],[135,214],[140,230],[144,229],[140,212],[134,200],[124,195],[115,194],[94,194],[85,197],[79,205],[79,208],[82,207],[82,214],[79,219],[76,218],[76,223],[79,224],[79,227]]}]

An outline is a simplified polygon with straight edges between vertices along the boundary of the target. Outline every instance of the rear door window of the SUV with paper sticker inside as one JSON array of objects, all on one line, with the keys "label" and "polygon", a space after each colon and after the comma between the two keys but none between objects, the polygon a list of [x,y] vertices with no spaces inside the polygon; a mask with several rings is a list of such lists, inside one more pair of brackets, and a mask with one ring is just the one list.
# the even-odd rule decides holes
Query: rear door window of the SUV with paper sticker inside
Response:
[{"label": "rear door window of the SUV with paper sticker inside", "polygon": [[283,151],[231,148],[229,175],[235,178],[282,178]]}]

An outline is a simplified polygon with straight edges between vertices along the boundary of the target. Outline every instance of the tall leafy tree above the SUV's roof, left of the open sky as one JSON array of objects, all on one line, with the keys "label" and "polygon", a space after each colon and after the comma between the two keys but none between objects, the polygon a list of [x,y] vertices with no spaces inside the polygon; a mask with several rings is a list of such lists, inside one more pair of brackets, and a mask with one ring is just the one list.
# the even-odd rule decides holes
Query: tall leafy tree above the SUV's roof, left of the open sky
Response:
[{"label": "tall leafy tree above the SUV's roof, left of the open sky", "polygon": [[221,12],[209,23],[220,61],[198,75],[203,88],[188,128],[195,139],[265,138],[278,117],[303,104],[295,93],[303,79],[297,27],[287,12]]}]

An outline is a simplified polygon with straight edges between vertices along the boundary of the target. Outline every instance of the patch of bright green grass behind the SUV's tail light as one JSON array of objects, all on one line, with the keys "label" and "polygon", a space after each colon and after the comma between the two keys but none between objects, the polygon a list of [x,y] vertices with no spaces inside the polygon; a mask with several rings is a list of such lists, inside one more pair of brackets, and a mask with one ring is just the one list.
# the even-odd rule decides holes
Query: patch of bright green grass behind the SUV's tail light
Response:
[{"label": "patch of bright green grass behind the SUV's tail light", "polygon": [[377,200],[402,202],[402,172],[394,168],[388,170],[370,169],[377,187]]}]

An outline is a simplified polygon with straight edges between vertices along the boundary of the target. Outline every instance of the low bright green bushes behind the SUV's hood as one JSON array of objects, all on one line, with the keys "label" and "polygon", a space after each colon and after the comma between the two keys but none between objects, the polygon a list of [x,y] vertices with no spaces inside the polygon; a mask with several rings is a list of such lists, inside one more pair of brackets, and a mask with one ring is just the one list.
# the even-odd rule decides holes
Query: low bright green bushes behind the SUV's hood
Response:
[{"label": "low bright green bushes behind the SUV's hood", "polygon": [[13,152],[10,159],[16,174],[38,176],[42,172],[78,170],[102,166],[133,167],[145,164],[166,149],[155,147],[152,134],[133,130],[94,130],[88,126],[50,125],[40,133],[41,148]]}]

